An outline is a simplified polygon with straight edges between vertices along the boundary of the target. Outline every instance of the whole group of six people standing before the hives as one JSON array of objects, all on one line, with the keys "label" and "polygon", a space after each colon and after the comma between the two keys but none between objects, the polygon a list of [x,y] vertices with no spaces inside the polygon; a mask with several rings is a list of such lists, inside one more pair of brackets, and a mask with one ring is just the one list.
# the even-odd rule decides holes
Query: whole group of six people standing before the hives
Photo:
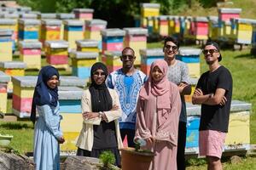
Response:
[{"label": "whole group of six people standing before the hives", "polygon": [[[126,137],[129,147],[138,139],[143,149],[154,152],[150,169],[185,169],[187,114],[184,95],[191,94],[188,66],[175,59],[179,42],[166,37],[165,59],[154,61],[148,77],[134,67],[132,48],[124,48],[123,67],[108,74],[106,65],[97,62],[90,71],[91,84],[81,99],[83,128],[77,141],[78,156],[99,157],[109,150],[120,165],[119,149]],[[219,65],[218,44],[207,42],[203,54],[209,71],[202,74],[193,94],[193,104],[201,105],[199,149],[207,156],[209,169],[221,169],[221,154],[228,130],[232,77]],[[59,169],[61,133],[57,84],[59,73],[45,66],[35,88],[32,121],[34,161],[38,170]]]}]

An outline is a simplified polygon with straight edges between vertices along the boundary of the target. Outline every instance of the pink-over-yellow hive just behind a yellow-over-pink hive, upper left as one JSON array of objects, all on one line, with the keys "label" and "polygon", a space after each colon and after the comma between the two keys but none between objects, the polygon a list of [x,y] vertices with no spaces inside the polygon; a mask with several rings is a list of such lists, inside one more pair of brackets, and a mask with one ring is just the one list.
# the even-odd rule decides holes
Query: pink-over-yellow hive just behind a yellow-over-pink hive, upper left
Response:
[{"label": "pink-over-yellow hive just behind a yellow-over-pink hive, upper left", "polygon": [[61,20],[42,20],[41,42],[61,39]]}]

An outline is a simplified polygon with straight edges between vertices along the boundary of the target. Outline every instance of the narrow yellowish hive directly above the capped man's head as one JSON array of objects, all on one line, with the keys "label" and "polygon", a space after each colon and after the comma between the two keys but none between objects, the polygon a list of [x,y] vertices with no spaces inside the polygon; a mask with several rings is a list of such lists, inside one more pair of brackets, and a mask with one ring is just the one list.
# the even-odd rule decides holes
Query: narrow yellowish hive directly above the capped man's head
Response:
[{"label": "narrow yellowish hive directly above the capped man's head", "polygon": [[218,39],[218,16],[208,16],[209,31],[208,38],[211,40]]}]

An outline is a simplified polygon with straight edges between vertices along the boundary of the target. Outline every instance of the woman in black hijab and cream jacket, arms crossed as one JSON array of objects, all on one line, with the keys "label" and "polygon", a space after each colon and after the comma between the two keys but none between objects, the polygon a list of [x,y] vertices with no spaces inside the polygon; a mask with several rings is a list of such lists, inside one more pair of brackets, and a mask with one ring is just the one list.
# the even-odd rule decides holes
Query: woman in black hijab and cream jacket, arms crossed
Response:
[{"label": "woman in black hijab and cream jacket, arms crossed", "polygon": [[92,65],[91,85],[81,100],[84,123],[77,155],[99,157],[103,151],[110,150],[115,156],[115,165],[119,166],[119,149],[123,146],[118,123],[121,110],[118,94],[106,86],[107,77],[106,65],[100,62]]}]

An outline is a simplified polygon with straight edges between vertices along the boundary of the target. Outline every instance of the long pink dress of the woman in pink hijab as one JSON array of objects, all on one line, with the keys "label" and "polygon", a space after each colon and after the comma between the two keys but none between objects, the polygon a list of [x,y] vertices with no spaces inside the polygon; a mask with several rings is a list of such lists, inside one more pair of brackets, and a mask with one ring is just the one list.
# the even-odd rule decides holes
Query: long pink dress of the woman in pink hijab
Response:
[{"label": "long pink dress of the woman in pink hijab", "polygon": [[154,151],[154,161],[149,169],[177,169],[177,129],[181,111],[181,99],[177,85],[170,82],[170,110],[157,111],[157,97],[138,99],[135,139],[155,139],[143,149]]}]

